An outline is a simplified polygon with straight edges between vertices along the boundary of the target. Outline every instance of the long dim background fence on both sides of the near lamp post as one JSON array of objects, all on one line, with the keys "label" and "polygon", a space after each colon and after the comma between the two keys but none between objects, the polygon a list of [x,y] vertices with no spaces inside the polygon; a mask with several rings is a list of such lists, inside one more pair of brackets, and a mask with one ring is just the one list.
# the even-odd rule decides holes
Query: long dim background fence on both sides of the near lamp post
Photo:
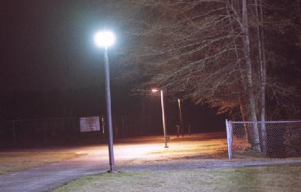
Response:
[{"label": "long dim background fence on both sides of the near lamp post", "polygon": [[[158,122],[157,122],[158,121]],[[156,133],[160,120],[152,116],[113,116],[114,137]],[[105,129],[106,130],[106,129]],[[105,131],[106,134],[106,131]],[[101,131],[80,133],[79,118],[5,120],[0,122],[0,145],[43,145],[74,142],[105,142]]]}]

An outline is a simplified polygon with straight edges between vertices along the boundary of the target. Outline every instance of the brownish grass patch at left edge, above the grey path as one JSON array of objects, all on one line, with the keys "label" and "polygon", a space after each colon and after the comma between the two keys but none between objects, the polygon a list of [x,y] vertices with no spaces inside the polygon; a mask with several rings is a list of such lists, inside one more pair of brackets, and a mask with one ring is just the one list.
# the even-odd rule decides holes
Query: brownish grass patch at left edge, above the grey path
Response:
[{"label": "brownish grass patch at left edge, above the grey path", "polygon": [[58,149],[0,151],[0,175],[31,169],[79,156],[74,151]]}]

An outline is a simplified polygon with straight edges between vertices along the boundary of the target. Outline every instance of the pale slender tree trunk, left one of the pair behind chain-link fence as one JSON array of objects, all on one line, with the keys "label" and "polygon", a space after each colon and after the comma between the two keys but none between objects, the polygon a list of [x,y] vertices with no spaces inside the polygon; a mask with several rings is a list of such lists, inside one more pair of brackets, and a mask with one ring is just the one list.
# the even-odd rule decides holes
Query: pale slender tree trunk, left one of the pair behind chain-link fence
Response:
[{"label": "pale slender tree trunk, left one of the pair behind chain-link fence", "polygon": [[249,37],[249,19],[247,12],[247,0],[242,0],[242,33],[243,33],[243,50],[245,54],[245,62],[247,68],[247,85],[248,85],[248,96],[249,96],[249,107],[251,121],[253,121],[253,149],[260,150],[260,140],[259,140],[259,131],[257,125],[257,116],[256,116],[256,100],[253,90],[253,79],[252,79],[252,66],[251,66],[251,53],[250,53],[250,37]]}]

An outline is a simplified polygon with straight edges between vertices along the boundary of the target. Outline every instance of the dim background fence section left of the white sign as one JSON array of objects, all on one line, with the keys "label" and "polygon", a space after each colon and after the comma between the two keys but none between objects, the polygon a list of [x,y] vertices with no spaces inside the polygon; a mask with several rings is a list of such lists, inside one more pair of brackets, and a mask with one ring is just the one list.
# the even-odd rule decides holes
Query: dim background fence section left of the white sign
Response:
[{"label": "dim background fence section left of the white sign", "polygon": [[76,140],[77,118],[6,120],[0,125],[0,144],[35,145]]}]

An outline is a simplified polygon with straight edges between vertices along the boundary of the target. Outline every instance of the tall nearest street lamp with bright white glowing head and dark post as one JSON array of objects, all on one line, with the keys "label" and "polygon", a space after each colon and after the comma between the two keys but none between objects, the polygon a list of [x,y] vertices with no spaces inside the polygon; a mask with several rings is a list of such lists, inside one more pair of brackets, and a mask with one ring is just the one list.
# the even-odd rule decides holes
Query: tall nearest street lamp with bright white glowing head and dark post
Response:
[{"label": "tall nearest street lamp with bright white glowing head and dark post", "polygon": [[112,32],[103,30],[94,35],[94,43],[105,49],[105,96],[107,98],[107,122],[109,133],[109,157],[110,157],[110,173],[114,171],[114,150],[113,150],[113,128],[112,128],[112,109],[111,109],[111,90],[110,90],[110,67],[109,58],[107,56],[107,47],[114,45],[115,36]]}]

